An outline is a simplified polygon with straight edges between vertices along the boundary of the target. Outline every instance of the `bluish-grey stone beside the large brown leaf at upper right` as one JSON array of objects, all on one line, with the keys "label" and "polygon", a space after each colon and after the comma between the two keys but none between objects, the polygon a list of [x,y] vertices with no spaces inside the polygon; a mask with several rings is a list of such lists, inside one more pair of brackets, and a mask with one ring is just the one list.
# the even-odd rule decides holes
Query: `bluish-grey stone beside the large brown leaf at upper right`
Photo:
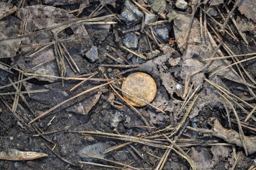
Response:
[{"label": "bluish-grey stone beside the large brown leaf at upper right", "polygon": [[161,24],[161,25],[156,25],[154,27],[154,31],[156,32],[156,34],[162,39],[164,40],[164,42],[168,42],[168,40],[170,39],[169,37],[169,32],[172,30],[170,23],[167,24]]}]

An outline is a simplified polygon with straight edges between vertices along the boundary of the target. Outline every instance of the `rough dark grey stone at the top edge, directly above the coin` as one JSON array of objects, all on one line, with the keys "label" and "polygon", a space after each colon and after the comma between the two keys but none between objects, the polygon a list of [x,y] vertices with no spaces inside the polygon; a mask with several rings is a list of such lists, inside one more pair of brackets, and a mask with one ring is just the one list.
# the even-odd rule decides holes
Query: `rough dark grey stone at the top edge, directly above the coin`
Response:
[{"label": "rough dark grey stone at the top edge, directly above the coin", "polygon": [[120,15],[127,25],[138,22],[142,19],[143,13],[135,6],[130,0],[125,0],[123,5],[123,11]]}]

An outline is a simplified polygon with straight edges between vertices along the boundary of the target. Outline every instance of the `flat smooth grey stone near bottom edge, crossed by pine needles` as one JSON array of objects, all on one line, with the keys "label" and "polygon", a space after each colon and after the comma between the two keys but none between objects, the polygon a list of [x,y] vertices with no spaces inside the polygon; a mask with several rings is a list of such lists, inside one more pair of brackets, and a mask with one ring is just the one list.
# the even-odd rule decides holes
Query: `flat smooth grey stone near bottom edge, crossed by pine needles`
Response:
[{"label": "flat smooth grey stone near bottom edge, crossed by pine needles", "polygon": [[106,144],[105,143],[95,143],[93,145],[88,145],[77,153],[80,158],[82,158],[85,162],[102,162],[97,158],[91,158],[90,156],[86,155],[85,153],[95,155],[97,157],[104,158],[106,155],[103,154],[106,150]]}]

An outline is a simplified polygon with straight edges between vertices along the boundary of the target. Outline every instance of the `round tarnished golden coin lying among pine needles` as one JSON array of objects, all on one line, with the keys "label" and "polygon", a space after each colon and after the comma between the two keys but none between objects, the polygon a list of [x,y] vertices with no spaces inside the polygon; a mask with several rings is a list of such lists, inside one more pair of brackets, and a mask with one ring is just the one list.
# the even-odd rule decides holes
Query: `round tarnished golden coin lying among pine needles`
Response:
[{"label": "round tarnished golden coin lying among pine needles", "polygon": [[[126,77],[122,84],[123,97],[133,106],[142,107],[146,103],[136,99],[138,97],[148,103],[156,97],[156,82],[150,75],[143,72],[136,72]],[[132,97],[131,95],[135,96]]]}]

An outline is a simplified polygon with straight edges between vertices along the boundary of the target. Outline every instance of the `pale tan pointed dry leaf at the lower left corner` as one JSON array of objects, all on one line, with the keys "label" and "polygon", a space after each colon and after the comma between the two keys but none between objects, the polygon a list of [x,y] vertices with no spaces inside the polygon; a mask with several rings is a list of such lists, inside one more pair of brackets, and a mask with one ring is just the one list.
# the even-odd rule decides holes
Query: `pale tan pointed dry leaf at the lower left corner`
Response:
[{"label": "pale tan pointed dry leaf at the lower left corner", "polygon": [[48,154],[38,152],[22,152],[8,148],[0,153],[0,159],[4,160],[33,160],[41,157],[48,157]]}]

